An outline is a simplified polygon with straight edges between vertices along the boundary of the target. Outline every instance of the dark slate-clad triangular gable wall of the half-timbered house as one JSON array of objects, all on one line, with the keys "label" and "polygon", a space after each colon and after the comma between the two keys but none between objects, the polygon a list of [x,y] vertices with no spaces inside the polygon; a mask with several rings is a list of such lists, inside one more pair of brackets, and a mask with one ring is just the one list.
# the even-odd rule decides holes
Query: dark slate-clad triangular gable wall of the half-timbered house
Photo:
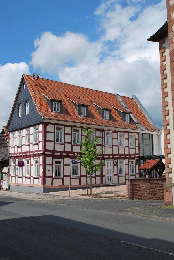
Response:
[{"label": "dark slate-clad triangular gable wall of the half-timbered house", "polygon": [[[24,82],[25,82],[25,80],[23,80],[21,83],[21,88],[19,91],[18,99],[16,101],[13,115],[12,115],[10,124],[7,129],[8,132],[43,122],[43,118],[40,116],[40,114],[38,113],[38,111],[36,109],[36,106],[34,104],[34,101],[32,99],[32,96],[29,92],[29,89],[28,89],[26,83],[25,83],[25,88],[23,89]],[[29,114],[25,115],[25,102],[27,100],[29,100]],[[22,116],[21,117],[18,117],[19,104],[22,104]]]}]

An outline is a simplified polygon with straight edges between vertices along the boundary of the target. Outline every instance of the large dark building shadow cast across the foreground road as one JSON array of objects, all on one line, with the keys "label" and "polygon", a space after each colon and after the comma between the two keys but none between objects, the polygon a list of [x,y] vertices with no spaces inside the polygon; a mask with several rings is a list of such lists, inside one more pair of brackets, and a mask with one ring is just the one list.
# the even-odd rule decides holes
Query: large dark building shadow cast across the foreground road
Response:
[{"label": "large dark building shadow cast across the foreground road", "polygon": [[[143,239],[54,215],[11,218],[0,221],[1,258],[10,259],[174,259],[174,257],[120,242],[174,245],[159,239]],[[2,235],[3,234],[3,235]],[[105,235],[103,235],[105,234]],[[155,236],[155,234],[154,234]],[[119,239],[116,239],[119,238]],[[19,255],[21,256],[19,257]],[[13,257],[11,258],[11,255]]]}]

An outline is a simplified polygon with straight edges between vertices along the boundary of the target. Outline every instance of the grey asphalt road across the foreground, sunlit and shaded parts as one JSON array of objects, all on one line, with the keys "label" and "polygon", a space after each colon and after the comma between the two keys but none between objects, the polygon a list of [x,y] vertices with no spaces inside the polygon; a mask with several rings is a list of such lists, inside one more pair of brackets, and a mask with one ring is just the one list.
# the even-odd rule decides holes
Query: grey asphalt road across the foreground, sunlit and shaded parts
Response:
[{"label": "grey asphalt road across the foreground, sunlit and shaded parts", "polygon": [[[174,259],[174,222],[120,210],[127,200],[32,201],[0,196],[0,260]],[[162,205],[155,203],[155,205]]]}]

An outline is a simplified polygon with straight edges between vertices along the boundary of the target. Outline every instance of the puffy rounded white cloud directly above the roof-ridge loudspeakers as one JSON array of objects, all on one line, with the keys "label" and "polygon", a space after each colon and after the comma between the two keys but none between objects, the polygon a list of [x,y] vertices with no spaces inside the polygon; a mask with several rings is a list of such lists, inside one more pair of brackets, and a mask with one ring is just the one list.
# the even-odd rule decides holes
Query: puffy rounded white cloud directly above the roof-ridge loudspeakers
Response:
[{"label": "puffy rounded white cloud directly above the roof-ridge loudspeakers", "polygon": [[61,65],[70,62],[82,62],[94,57],[100,52],[97,42],[91,43],[83,34],[67,31],[62,36],[44,32],[41,38],[34,42],[37,48],[32,55],[31,64],[43,72],[56,72]]}]

